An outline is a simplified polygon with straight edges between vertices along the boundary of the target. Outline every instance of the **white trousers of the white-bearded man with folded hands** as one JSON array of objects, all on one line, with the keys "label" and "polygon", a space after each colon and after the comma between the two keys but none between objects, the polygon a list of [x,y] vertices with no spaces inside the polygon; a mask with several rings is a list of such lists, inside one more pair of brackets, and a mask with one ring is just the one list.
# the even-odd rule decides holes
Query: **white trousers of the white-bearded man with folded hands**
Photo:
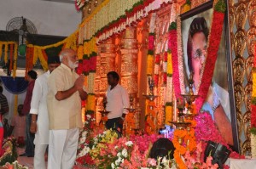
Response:
[{"label": "white trousers of the white-bearded man with folded hands", "polygon": [[79,144],[79,128],[49,130],[48,169],[72,169]]}]

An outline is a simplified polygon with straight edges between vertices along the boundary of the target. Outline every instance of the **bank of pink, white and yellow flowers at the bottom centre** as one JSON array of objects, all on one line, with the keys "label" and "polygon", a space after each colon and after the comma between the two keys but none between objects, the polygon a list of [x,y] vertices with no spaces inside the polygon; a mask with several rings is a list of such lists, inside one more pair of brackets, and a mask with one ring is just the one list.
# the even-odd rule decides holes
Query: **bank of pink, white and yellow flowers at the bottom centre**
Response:
[{"label": "bank of pink, white and yellow flowers at the bottom centre", "polygon": [[[175,162],[166,157],[157,160],[148,158],[151,145],[160,137],[153,134],[118,138],[117,132],[108,130],[90,139],[90,143],[86,144],[90,146],[90,152],[79,157],[77,162],[82,166],[94,164],[98,168],[176,168]],[[83,149],[88,148],[84,146]]]}]

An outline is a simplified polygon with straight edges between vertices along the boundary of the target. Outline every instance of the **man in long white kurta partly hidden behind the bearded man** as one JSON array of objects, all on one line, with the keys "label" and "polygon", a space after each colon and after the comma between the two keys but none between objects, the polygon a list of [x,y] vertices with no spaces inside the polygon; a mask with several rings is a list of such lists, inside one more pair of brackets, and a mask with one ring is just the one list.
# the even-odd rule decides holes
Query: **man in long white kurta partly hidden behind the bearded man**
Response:
[{"label": "man in long white kurta partly hidden behind the bearded man", "polygon": [[44,154],[49,143],[49,117],[47,110],[47,80],[49,74],[60,65],[59,56],[49,56],[48,67],[49,70],[43,75],[39,76],[35,82],[32,92],[31,110],[32,122],[30,132],[35,133],[35,155],[34,168],[45,169]]}]

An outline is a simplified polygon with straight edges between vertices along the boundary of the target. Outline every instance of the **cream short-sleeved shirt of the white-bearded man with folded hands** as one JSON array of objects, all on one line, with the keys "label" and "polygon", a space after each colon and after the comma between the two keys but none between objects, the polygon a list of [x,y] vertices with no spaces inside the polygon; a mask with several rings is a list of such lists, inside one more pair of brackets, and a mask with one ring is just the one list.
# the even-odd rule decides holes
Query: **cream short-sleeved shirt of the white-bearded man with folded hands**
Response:
[{"label": "cream short-sleeved shirt of the white-bearded man with folded hands", "polygon": [[49,130],[66,130],[82,127],[81,99],[79,91],[69,98],[58,101],[55,94],[73,87],[79,75],[67,65],[61,64],[48,79],[47,106],[49,113]]}]

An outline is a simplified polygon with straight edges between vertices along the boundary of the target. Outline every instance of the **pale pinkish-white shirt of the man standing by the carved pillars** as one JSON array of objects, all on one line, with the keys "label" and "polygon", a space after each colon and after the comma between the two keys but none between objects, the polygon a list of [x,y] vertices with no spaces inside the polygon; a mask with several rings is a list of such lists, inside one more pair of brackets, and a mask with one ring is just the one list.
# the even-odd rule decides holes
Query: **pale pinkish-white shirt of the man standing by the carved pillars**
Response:
[{"label": "pale pinkish-white shirt of the man standing by the carved pillars", "polygon": [[127,114],[128,110],[124,108],[130,107],[129,96],[127,90],[117,84],[110,90],[111,86],[107,90],[107,107],[106,110],[110,111],[108,113],[108,119],[113,119],[122,116],[122,114]]}]

